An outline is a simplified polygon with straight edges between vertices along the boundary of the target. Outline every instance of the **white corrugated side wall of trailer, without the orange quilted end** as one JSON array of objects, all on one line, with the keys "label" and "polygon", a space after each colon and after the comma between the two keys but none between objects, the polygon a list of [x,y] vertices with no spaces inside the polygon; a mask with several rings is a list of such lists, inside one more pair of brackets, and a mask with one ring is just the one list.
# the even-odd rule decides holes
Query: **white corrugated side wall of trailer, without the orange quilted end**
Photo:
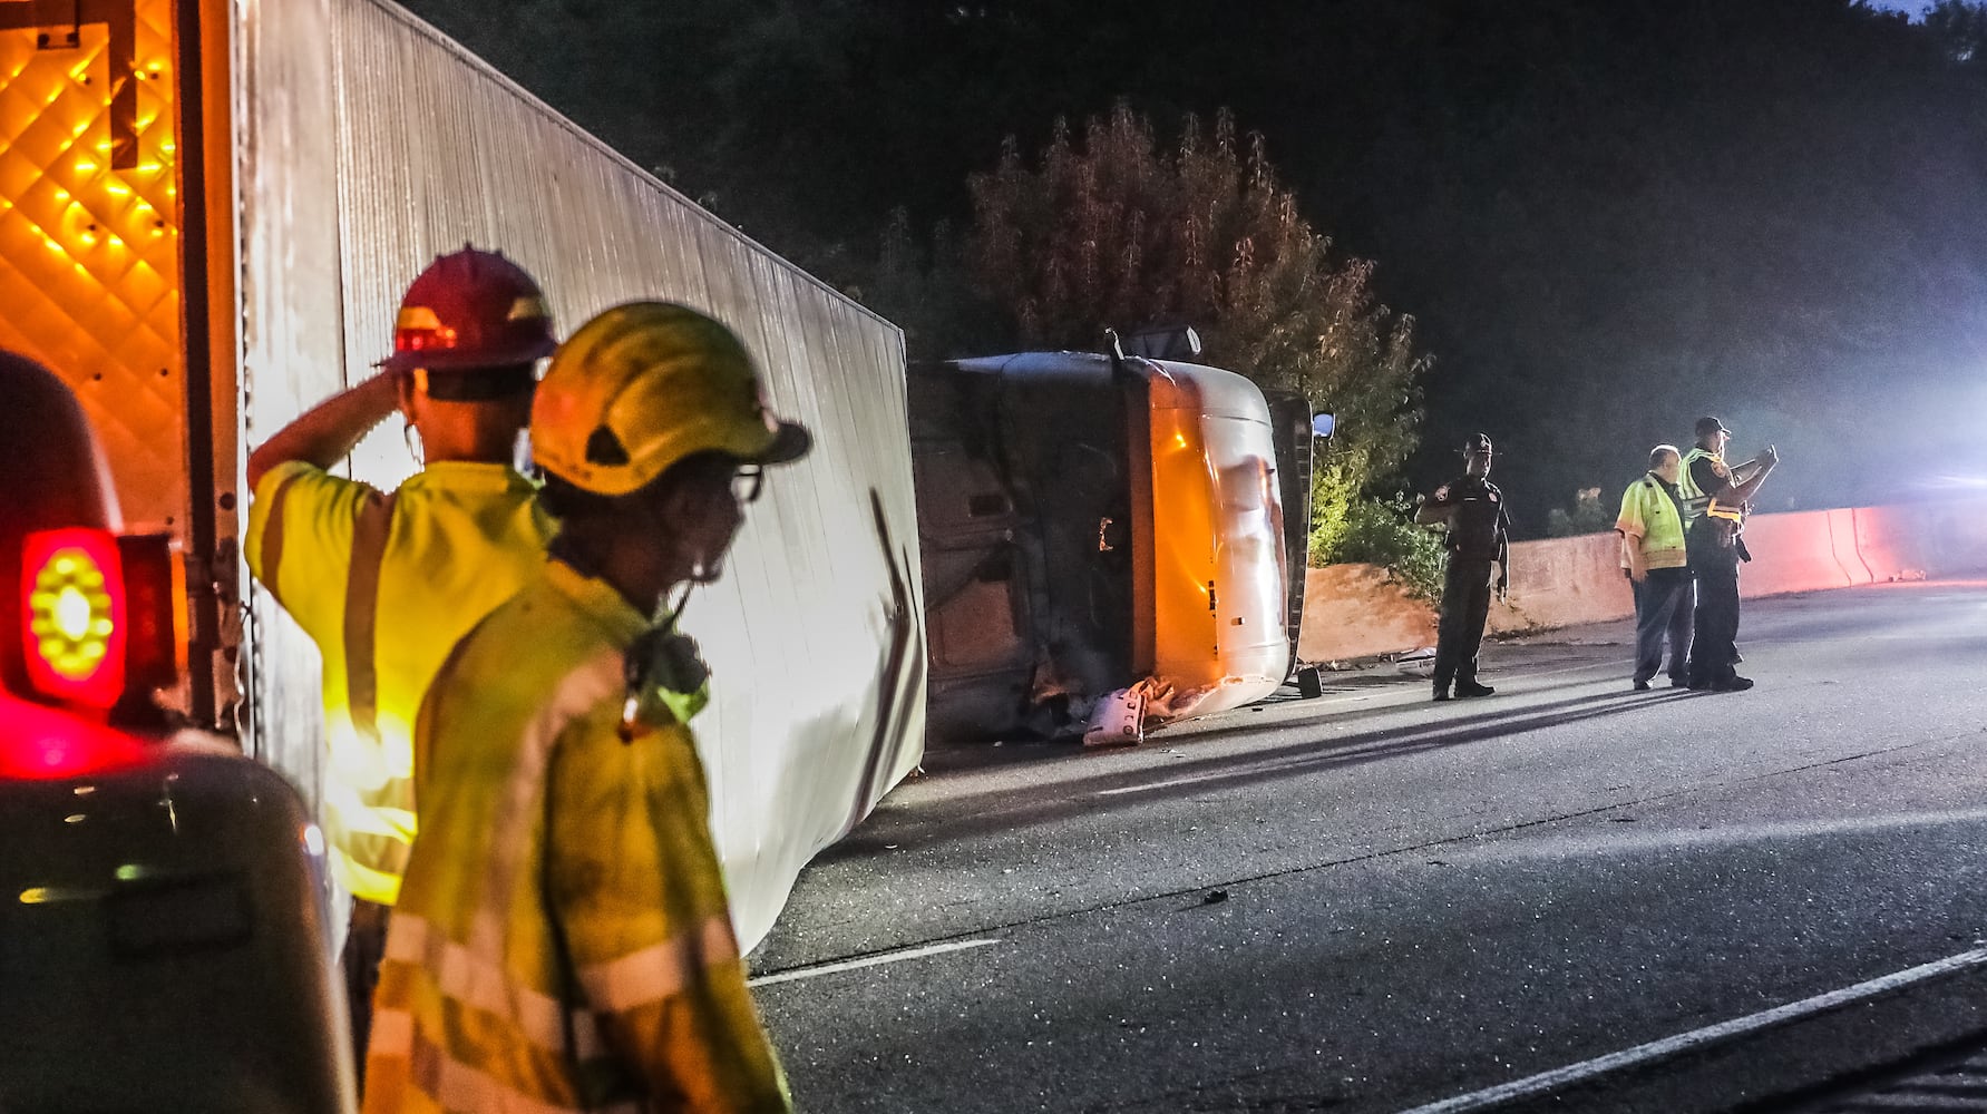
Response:
[{"label": "white corrugated side wall of trailer, without the orange quilted end", "polygon": [[[902,334],[391,4],[252,0],[240,20],[250,443],[364,377],[405,284],[463,242],[533,270],[560,332],[630,298],[711,312],[759,357],[775,407],[815,429],[813,457],[769,479],[725,578],[686,610],[715,671],[695,721],[711,824],[755,943],[799,868],[922,753]],[[397,419],[354,455],[378,485],[411,467]],[[316,657],[270,612],[258,596],[256,743],[314,780]]]}]

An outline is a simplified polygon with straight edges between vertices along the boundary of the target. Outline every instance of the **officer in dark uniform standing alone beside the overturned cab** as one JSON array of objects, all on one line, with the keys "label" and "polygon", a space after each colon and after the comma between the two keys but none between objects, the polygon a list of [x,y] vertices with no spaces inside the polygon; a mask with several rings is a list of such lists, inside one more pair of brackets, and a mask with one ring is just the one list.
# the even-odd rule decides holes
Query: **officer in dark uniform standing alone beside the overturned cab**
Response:
[{"label": "officer in dark uniform standing alone beside the overturned cab", "polygon": [[1443,574],[1443,622],[1435,639],[1435,699],[1449,699],[1454,681],[1458,697],[1488,697],[1490,685],[1476,683],[1476,647],[1490,616],[1490,564],[1496,562],[1496,594],[1510,588],[1510,514],[1504,492],[1490,483],[1490,437],[1478,433],[1462,445],[1464,473],[1435,488],[1421,502],[1415,522],[1449,526],[1449,568]]}]

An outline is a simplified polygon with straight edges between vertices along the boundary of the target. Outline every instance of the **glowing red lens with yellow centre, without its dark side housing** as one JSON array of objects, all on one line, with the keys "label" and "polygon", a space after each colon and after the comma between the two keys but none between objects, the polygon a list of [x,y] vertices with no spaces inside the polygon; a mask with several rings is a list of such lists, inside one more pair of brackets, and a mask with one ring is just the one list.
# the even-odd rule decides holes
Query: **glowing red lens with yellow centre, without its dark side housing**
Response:
[{"label": "glowing red lens with yellow centre, without its dark side housing", "polygon": [[125,687],[125,586],[117,538],[68,528],[28,534],[22,649],[36,691],[109,709]]}]

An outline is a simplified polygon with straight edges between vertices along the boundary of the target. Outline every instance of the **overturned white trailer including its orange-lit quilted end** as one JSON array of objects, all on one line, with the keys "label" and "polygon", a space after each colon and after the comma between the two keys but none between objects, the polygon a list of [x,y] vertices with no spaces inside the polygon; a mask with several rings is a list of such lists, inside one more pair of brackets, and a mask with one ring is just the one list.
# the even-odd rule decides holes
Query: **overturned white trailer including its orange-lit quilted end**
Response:
[{"label": "overturned white trailer including its orange-lit quilted end", "polygon": [[[918,763],[926,673],[902,334],[385,0],[0,0],[0,348],[58,369],[125,518],[183,554],[177,703],[316,798],[318,659],[238,562],[242,459],[385,353],[437,252],[501,248],[564,328],[666,298],[731,324],[815,455],[686,626],[747,945]],[[352,475],[413,469],[397,423]]]}]

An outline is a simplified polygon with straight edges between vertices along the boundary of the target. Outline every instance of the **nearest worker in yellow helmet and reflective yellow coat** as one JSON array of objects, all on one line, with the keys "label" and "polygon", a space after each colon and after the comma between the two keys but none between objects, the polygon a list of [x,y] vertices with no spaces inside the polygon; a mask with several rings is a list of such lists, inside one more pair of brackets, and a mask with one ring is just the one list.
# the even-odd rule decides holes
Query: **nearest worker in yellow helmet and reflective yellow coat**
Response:
[{"label": "nearest worker in yellow helmet and reflective yellow coat", "polygon": [[787,1110],[686,723],[705,673],[674,616],[759,469],[809,435],[769,415],[729,330],[638,302],[554,355],[533,449],[560,534],[421,711],[366,1112]]}]

